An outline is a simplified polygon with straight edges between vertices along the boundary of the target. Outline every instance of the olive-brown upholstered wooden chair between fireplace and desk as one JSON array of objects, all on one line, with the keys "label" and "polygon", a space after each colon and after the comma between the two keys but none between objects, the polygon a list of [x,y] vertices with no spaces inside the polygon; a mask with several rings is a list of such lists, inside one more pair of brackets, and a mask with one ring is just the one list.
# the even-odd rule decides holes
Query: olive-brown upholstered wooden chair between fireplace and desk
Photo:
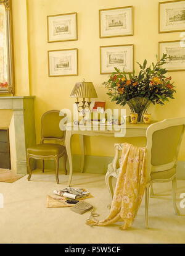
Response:
[{"label": "olive-brown upholstered wooden chair between fireplace and desk", "polygon": [[41,143],[27,149],[27,166],[29,171],[28,181],[31,179],[30,159],[43,160],[42,172],[44,173],[44,160],[55,160],[56,169],[55,176],[57,184],[59,184],[59,159],[64,156],[65,174],[67,174],[66,161],[67,151],[64,145],[55,143],[44,143],[44,140],[57,140],[65,143],[65,132],[60,130],[60,121],[64,122],[67,117],[60,116],[59,110],[47,111],[43,114],[41,120]]}]

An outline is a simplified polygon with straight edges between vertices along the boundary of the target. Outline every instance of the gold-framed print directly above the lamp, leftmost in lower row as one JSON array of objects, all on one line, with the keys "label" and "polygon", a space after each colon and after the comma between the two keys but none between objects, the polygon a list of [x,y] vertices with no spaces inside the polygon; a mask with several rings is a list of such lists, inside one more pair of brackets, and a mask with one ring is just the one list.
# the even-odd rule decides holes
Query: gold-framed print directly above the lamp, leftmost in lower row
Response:
[{"label": "gold-framed print directly above the lamp, leftmost in lower row", "polygon": [[78,75],[78,49],[48,51],[49,77]]}]

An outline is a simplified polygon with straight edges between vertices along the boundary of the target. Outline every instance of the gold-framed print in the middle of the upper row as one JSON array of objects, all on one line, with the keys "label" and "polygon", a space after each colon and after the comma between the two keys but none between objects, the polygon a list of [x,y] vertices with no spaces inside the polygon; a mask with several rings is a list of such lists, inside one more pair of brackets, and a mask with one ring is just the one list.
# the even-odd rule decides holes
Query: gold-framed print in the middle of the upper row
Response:
[{"label": "gold-framed print in the middle of the upper row", "polygon": [[[123,15],[123,14],[119,13],[119,11],[121,11],[121,9],[124,11],[125,11],[125,9],[128,9],[128,11],[126,12],[126,14]],[[104,17],[103,15],[106,12],[107,12],[107,14],[109,13],[109,15],[106,15],[106,17]],[[113,12],[114,12],[114,14],[113,14]],[[129,15],[129,13],[130,13],[130,23],[128,22],[128,20],[126,20],[126,17],[125,17],[126,15]],[[121,23],[121,20],[119,19],[119,15],[122,16],[121,17],[122,23]],[[134,35],[133,15],[134,15],[133,6],[115,7],[115,8],[99,10],[99,38],[110,38],[110,37],[118,37],[118,36],[133,36]],[[109,16],[112,16],[114,18],[114,20],[118,20],[118,21],[113,22],[113,19]],[[106,19],[108,19],[108,20],[106,20]],[[111,24],[109,23],[110,22],[109,19],[112,20]],[[123,19],[125,19],[125,20],[123,20]],[[126,32],[126,22],[128,22],[127,23],[128,27],[129,27],[128,32]],[[103,31],[104,25],[106,25],[107,35]],[[115,32],[114,32],[115,34],[112,33],[114,27],[115,27]],[[120,32],[118,31],[119,29],[120,29]],[[117,32],[116,32],[116,30],[117,30]]]}]

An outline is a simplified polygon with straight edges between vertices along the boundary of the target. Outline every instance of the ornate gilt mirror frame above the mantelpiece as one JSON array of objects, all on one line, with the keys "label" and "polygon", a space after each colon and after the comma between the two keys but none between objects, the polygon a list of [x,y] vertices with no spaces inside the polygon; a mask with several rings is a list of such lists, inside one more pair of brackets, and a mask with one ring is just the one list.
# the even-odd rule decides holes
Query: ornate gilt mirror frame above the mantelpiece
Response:
[{"label": "ornate gilt mirror frame above the mantelpiece", "polygon": [[[7,52],[7,85],[1,85],[1,94],[15,93],[14,84],[14,51],[12,33],[12,0],[0,0],[0,5],[5,7],[5,29],[6,29],[6,52]],[[3,84],[0,80],[0,84]]]}]

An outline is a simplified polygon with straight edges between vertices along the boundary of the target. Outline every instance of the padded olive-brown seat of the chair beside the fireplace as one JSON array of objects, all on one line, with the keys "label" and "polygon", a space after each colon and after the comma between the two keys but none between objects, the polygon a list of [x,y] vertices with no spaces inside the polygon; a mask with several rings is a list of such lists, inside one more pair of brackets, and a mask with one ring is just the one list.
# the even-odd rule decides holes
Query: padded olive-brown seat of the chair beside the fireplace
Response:
[{"label": "padded olive-brown seat of the chair beside the fireplace", "polygon": [[64,153],[65,147],[59,144],[38,144],[28,148],[27,153],[35,156],[55,156]]}]

